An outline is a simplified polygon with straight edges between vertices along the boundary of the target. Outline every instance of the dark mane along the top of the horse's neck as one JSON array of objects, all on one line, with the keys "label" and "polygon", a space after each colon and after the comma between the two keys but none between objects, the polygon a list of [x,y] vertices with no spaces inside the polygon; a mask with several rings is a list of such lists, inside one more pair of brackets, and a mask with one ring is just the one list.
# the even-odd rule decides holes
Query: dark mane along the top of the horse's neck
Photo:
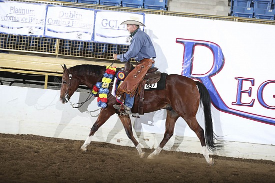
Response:
[{"label": "dark mane along the top of the horse's neck", "polygon": [[104,70],[105,68],[106,68],[105,66],[100,66],[100,65],[83,64],[83,65],[76,65],[76,66],[70,67],[69,71],[73,72],[78,76],[91,75],[91,74],[100,75],[102,73],[102,70]]}]

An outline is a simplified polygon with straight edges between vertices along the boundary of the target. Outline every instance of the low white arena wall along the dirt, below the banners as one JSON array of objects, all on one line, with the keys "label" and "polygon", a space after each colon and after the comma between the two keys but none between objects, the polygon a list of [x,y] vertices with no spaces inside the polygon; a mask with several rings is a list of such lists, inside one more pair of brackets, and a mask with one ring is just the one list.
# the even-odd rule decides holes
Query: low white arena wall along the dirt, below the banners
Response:
[{"label": "low white arena wall along the dirt, below the banners", "polygon": [[[76,92],[72,96],[71,102],[83,101],[87,95],[87,93]],[[2,101],[2,105],[0,105],[0,133],[5,134],[33,134],[85,140],[100,110],[94,97],[79,109],[73,109],[69,103],[61,104],[58,100],[59,91],[57,90],[0,85],[0,96]],[[215,111],[215,109],[213,110]],[[157,119],[161,116],[159,113],[145,114],[140,119],[131,118],[134,137],[143,148],[156,148],[162,140],[165,128],[164,120],[154,121],[154,118]],[[198,114],[197,117],[200,118],[201,114]],[[201,122],[200,125],[203,126]],[[201,153],[200,142],[192,133],[185,124],[177,122],[175,134],[168,141],[164,150]],[[133,147],[117,114],[99,128],[92,141]],[[92,142],[90,146],[92,146]],[[226,141],[222,151],[212,152],[212,154],[275,161],[274,150],[275,147],[272,145]]]}]

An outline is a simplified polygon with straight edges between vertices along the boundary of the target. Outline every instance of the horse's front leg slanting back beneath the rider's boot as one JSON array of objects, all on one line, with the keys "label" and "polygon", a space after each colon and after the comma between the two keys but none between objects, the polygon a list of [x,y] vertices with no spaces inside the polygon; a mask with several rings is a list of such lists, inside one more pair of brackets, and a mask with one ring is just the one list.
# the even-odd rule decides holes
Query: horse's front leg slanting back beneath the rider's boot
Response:
[{"label": "horse's front leg slanting back beneath the rider's boot", "polygon": [[140,144],[136,141],[136,139],[133,137],[132,134],[132,125],[131,125],[131,120],[129,115],[120,115],[119,119],[121,120],[123,127],[125,129],[126,135],[128,136],[128,138],[132,141],[132,143],[134,144],[138,155],[140,158],[143,158],[145,155],[145,152],[142,151]]}]

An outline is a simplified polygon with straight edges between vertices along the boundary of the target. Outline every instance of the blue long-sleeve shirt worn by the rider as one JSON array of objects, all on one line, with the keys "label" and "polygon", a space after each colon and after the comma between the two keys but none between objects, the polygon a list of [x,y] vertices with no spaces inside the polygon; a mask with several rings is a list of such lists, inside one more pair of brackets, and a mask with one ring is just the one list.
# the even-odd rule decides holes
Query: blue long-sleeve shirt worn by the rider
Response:
[{"label": "blue long-sleeve shirt worn by the rider", "polygon": [[117,59],[120,62],[129,61],[134,58],[135,61],[140,61],[143,58],[155,58],[155,50],[150,37],[140,28],[137,29],[136,33],[133,35],[129,49],[126,53],[117,55]]}]

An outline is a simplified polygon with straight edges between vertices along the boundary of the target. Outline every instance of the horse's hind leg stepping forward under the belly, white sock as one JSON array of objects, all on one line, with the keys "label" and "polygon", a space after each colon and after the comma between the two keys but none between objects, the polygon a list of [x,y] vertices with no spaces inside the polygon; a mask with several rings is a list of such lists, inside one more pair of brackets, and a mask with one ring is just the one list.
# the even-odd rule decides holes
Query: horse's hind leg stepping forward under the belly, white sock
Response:
[{"label": "horse's hind leg stepping forward under the belly, white sock", "polygon": [[172,137],[174,132],[174,125],[179,117],[178,114],[174,110],[166,110],[167,111],[167,117],[165,122],[165,132],[164,137],[158,147],[147,157],[147,159],[153,159],[154,156],[159,155],[162,148],[165,146],[165,144],[168,142],[168,140]]}]

